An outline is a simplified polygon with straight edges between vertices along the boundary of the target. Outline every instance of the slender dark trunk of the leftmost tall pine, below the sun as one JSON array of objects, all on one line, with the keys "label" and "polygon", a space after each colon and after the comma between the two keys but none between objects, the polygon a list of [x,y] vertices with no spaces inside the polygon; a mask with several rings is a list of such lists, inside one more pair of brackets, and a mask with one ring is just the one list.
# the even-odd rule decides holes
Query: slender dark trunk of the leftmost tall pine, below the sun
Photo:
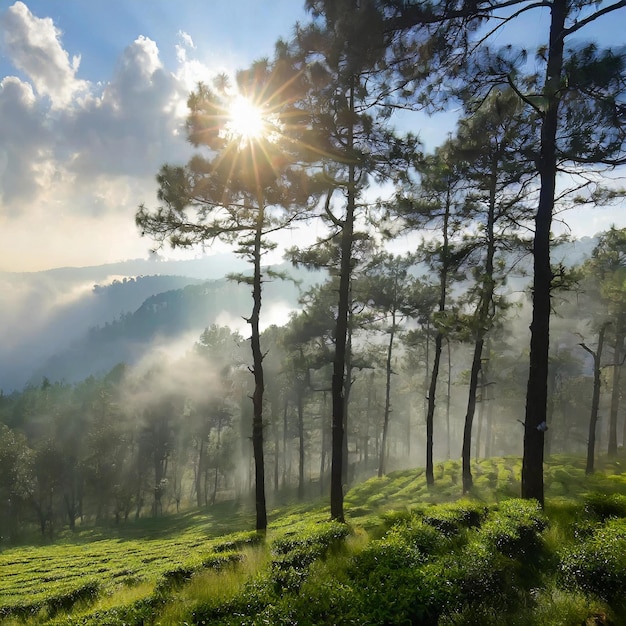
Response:
[{"label": "slender dark trunk of the leftmost tall pine, below the sun", "polygon": [[265,461],[263,458],[263,353],[261,352],[261,334],[259,319],[261,314],[261,237],[265,221],[263,201],[258,206],[257,227],[254,236],[254,276],[252,299],[254,306],[248,320],[252,328],[250,343],[252,346],[252,373],[254,375],[254,393],[252,395],[252,449],[254,452],[256,530],[264,533],[267,529],[267,510],[265,505]]}]

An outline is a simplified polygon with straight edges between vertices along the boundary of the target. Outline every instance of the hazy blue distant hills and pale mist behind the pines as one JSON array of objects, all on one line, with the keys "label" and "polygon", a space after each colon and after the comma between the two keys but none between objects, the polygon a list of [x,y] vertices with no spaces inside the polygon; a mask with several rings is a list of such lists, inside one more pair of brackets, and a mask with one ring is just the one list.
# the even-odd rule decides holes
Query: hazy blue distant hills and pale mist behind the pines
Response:
[{"label": "hazy blue distant hills and pale mist behind the pines", "polygon": [[[568,266],[589,257],[597,239],[585,237],[553,251],[553,262]],[[532,259],[525,261],[528,270]],[[3,306],[0,327],[0,389],[52,381],[76,382],[150,351],[184,351],[210,324],[229,325],[247,336],[250,290],[225,279],[245,272],[242,259],[221,254],[186,261],[158,257],[120,263],[59,268],[45,272],[0,272]],[[307,285],[322,272],[282,270]],[[527,279],[511,283],[523,290]],[[299,289],[270,280],[264,286],[262,324],[282,324],[297,308]]]}]

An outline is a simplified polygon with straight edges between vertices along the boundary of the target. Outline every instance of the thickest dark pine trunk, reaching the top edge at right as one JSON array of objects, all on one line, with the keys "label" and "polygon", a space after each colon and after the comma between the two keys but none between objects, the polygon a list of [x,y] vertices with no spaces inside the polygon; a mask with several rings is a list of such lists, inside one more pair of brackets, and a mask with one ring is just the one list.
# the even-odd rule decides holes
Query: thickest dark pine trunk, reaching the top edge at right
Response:
[{"label": "thickest dark pine trunk, reaching the top edge at right", "polygon": [[563,74],[565,18],[568,0],[553,0],[550,43],[546,68],[541,124],[541,150],[538,162],[540,177],[539,205],[535,215],[533,241],[533,313],[530,325],[530,358],[524,420],[524,456],[522,459],[522,498],[544,503],[543,444],[548,398],[548,350],[550,344],[550,227],[556,187],[556,135],[558,129],[559,90]]}]

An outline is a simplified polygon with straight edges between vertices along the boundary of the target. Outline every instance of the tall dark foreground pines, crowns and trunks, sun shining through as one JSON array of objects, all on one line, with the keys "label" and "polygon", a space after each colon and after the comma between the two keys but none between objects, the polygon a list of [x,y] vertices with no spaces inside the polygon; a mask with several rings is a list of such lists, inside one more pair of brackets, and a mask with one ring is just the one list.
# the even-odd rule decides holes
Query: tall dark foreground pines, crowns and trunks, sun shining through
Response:
[{"label": "tall dark foreground pines, crowns and trunks, sun shining through", "polygon": [[[626,3],[309,0],[306,7],[310,22],[296,25],[290,40],[279,41],[272,60],[256,62],[237,75],[240,94],[265,113],[266,132],[245,141],[233,137],[228,132],[232,128],[228,100],[233,90],[227,79],[222,76],[212,86],[199,85],[189,98],[187,130],[191,143],[204,152],[186,166],[165,165],[158,176],[162,205],[156,210],[142,205],[137,214],[142,232],[160,244],[206,245],[215,238],[234,241],[254,268],[249,279],[253,292],[249,323],[255,378],[252,439],[257,528],[263,530],[267,521],[263,351],[258,323],[261,257],[267,246],[274,245],[271,233],[297,220],[319,221],[328,229],[316,246],[294,251],[293,257],[296,262],[316,265],[330,262],[338,277],[330,504],[333,519],[342,520],[351,283],[360,248],[376,234],[391,232],[380,226],[372,232],[368,225],[376,224],[377,218],[384,222],[385,217],[420,230],[433,220],[441,222],[439,318],[446,317],[450,274],[465,254],[471,254],[465,246],[449,245],[450,236],[454,229],[469,231],[472,221],[477,222],[476,228],[486,229],[482,301],[476,309],[480,328],[474,333],[472,380],[476,381],[485,336],[495,316],[494,277],[490,275],[496,249],[495,217],[507,204],[505,212],[520,210],[524,198],[531,207],[533,313],[522,496],[543,503],[551,294],[558,278],[550,262],[551,225],[559,205],[573,199],[561,189],[563,179],[557,178],[557,172],[569,172],[575,180],[576,201],[593,203],[613,193],[598,189],[602,166],[615,167],[625,158],[624,53],[602,49],[597,42],[582,46],[570,42]],[[499,37],[504,26],[515,26],[522,17],[540,10],[549,12],[550,25],[531,64],[528,50],[502,46]],[[394,111],[436,110],[451,101],[459,103],[468,116],[468,133],[474,116],[490,110],[503,123],[504,119],[518,122],[517,142],[506,136],[501,124],[492,129],[489,146],[481,145],[478,135],[475,145],[471,141],[466,145],[462,166],[458,155],[448,156],[445,145],[435,155],[424,155],[416,134],[399,134],[391,126]],[[484,122],[489,123],[487,118]],[[451,209],[463,185],[459,170],[465,165],[480,170],[473,176],[482,177],[478,189],[483,195],[476,200],[481,217],[464,218],[461,226]],[[374,184],[393,185],[395,198],[368,200],[367,192]],[[516,223],[514,216],[511,220]],[[439,330],[428,394],[429,483],[433,480],[433,414],[443,337]],[[468,436],[474,405],[470,395]],[[471,485],[467,465],[464,483]]]}]

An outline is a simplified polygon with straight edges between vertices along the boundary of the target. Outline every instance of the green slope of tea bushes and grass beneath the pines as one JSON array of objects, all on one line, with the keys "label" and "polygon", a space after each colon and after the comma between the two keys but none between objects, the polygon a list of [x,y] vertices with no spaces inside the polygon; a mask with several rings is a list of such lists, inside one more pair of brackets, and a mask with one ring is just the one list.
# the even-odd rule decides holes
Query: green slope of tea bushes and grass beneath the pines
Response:
[{"label": "green slope of tea bushes and grass beneath the pines", "polygon": [[262,543],[245,531],[252,511],[224,504],[8,549],[0,618],[626,624],[626,474],[618,462],[591,477],[583,467],[547,465],[545,515],[508,500],[519,493],[518,459],[476,464],[475,492],[458,502],[460,464],[449,461],[431,489],[422,470],[358,485],[348,527],[327,522],[325,506],[293,505],[274,512]]}]

